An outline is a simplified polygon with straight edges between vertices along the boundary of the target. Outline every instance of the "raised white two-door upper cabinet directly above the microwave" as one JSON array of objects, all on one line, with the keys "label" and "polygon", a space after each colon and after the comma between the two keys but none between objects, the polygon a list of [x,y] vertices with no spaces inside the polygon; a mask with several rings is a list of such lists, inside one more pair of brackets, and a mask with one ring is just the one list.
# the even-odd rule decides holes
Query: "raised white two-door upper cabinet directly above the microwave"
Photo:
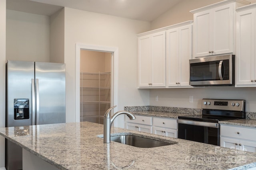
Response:
[{"label": "raised white two-door upper cabinet directly above the microwave", "polygon": [[193,57],[233,53],[235,9],[249,3],[225,0],[190,11],[194,13]]}]

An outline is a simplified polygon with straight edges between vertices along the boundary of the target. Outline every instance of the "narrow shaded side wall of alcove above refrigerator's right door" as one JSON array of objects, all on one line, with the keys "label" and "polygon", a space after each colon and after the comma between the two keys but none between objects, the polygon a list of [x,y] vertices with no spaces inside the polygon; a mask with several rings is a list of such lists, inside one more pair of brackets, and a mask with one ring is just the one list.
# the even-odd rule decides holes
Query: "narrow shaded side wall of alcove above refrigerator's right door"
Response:
[{"label": "narrow shaded side wall of alcove above refrigerator's right door", "polygon": [[50,62],[64,63],[64,8],[50,16]]}]

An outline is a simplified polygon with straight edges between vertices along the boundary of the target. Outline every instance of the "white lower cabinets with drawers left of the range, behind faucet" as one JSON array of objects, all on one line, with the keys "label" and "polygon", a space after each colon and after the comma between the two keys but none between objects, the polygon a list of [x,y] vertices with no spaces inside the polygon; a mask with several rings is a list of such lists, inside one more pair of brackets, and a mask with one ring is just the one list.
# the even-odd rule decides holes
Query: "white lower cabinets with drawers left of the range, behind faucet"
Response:
[{"label": "white lower cabinets with drawers left of the range, behind faucet", "polygon": [[135,116],[135,120],[125,118],[126,129],[177,138],[177,119]]}]

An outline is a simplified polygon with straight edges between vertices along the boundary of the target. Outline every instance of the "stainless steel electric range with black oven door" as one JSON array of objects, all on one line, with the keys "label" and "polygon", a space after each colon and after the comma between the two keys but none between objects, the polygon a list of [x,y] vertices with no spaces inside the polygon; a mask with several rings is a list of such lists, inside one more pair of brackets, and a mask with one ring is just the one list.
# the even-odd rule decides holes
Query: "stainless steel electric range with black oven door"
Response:
[{"label": "stainless steel electric range with black oven door", "polygon": [[219,121],[245,119],[245,100],[202,99],[202,115],[178,117],[178,138],[220,146]]}]

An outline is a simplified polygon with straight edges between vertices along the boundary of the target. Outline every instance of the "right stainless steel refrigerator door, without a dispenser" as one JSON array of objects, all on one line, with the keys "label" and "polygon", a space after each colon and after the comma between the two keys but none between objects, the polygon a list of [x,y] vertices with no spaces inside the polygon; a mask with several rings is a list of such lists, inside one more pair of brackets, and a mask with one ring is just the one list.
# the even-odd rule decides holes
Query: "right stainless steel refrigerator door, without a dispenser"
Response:
[{"label": "right stainless steel refrigerator door, without a dispenser", "polygon": [[36,124],[65,123],[65,64],[35,62],[35,80]]}]

